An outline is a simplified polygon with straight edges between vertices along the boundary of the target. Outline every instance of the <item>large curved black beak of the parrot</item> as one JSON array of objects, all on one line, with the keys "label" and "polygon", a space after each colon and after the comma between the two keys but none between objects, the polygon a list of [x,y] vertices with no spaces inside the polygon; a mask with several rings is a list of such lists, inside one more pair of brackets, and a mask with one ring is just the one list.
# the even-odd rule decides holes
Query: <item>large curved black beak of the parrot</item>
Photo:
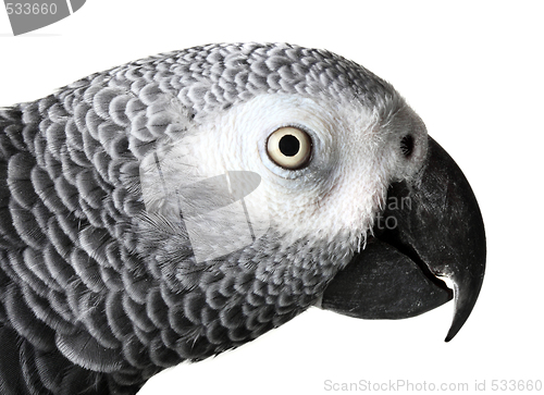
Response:
[{"label": "large curved black beak of the parrot", "polygon": [[[390,187],[367,248],[326,287],[321,307],[363,319],[401,319],[455,299],[450,341],[467,321],[485,270],[485,232],[470,185],[429,137],[426,162]],[[453,283],[453,292],[440,277]]]}]

